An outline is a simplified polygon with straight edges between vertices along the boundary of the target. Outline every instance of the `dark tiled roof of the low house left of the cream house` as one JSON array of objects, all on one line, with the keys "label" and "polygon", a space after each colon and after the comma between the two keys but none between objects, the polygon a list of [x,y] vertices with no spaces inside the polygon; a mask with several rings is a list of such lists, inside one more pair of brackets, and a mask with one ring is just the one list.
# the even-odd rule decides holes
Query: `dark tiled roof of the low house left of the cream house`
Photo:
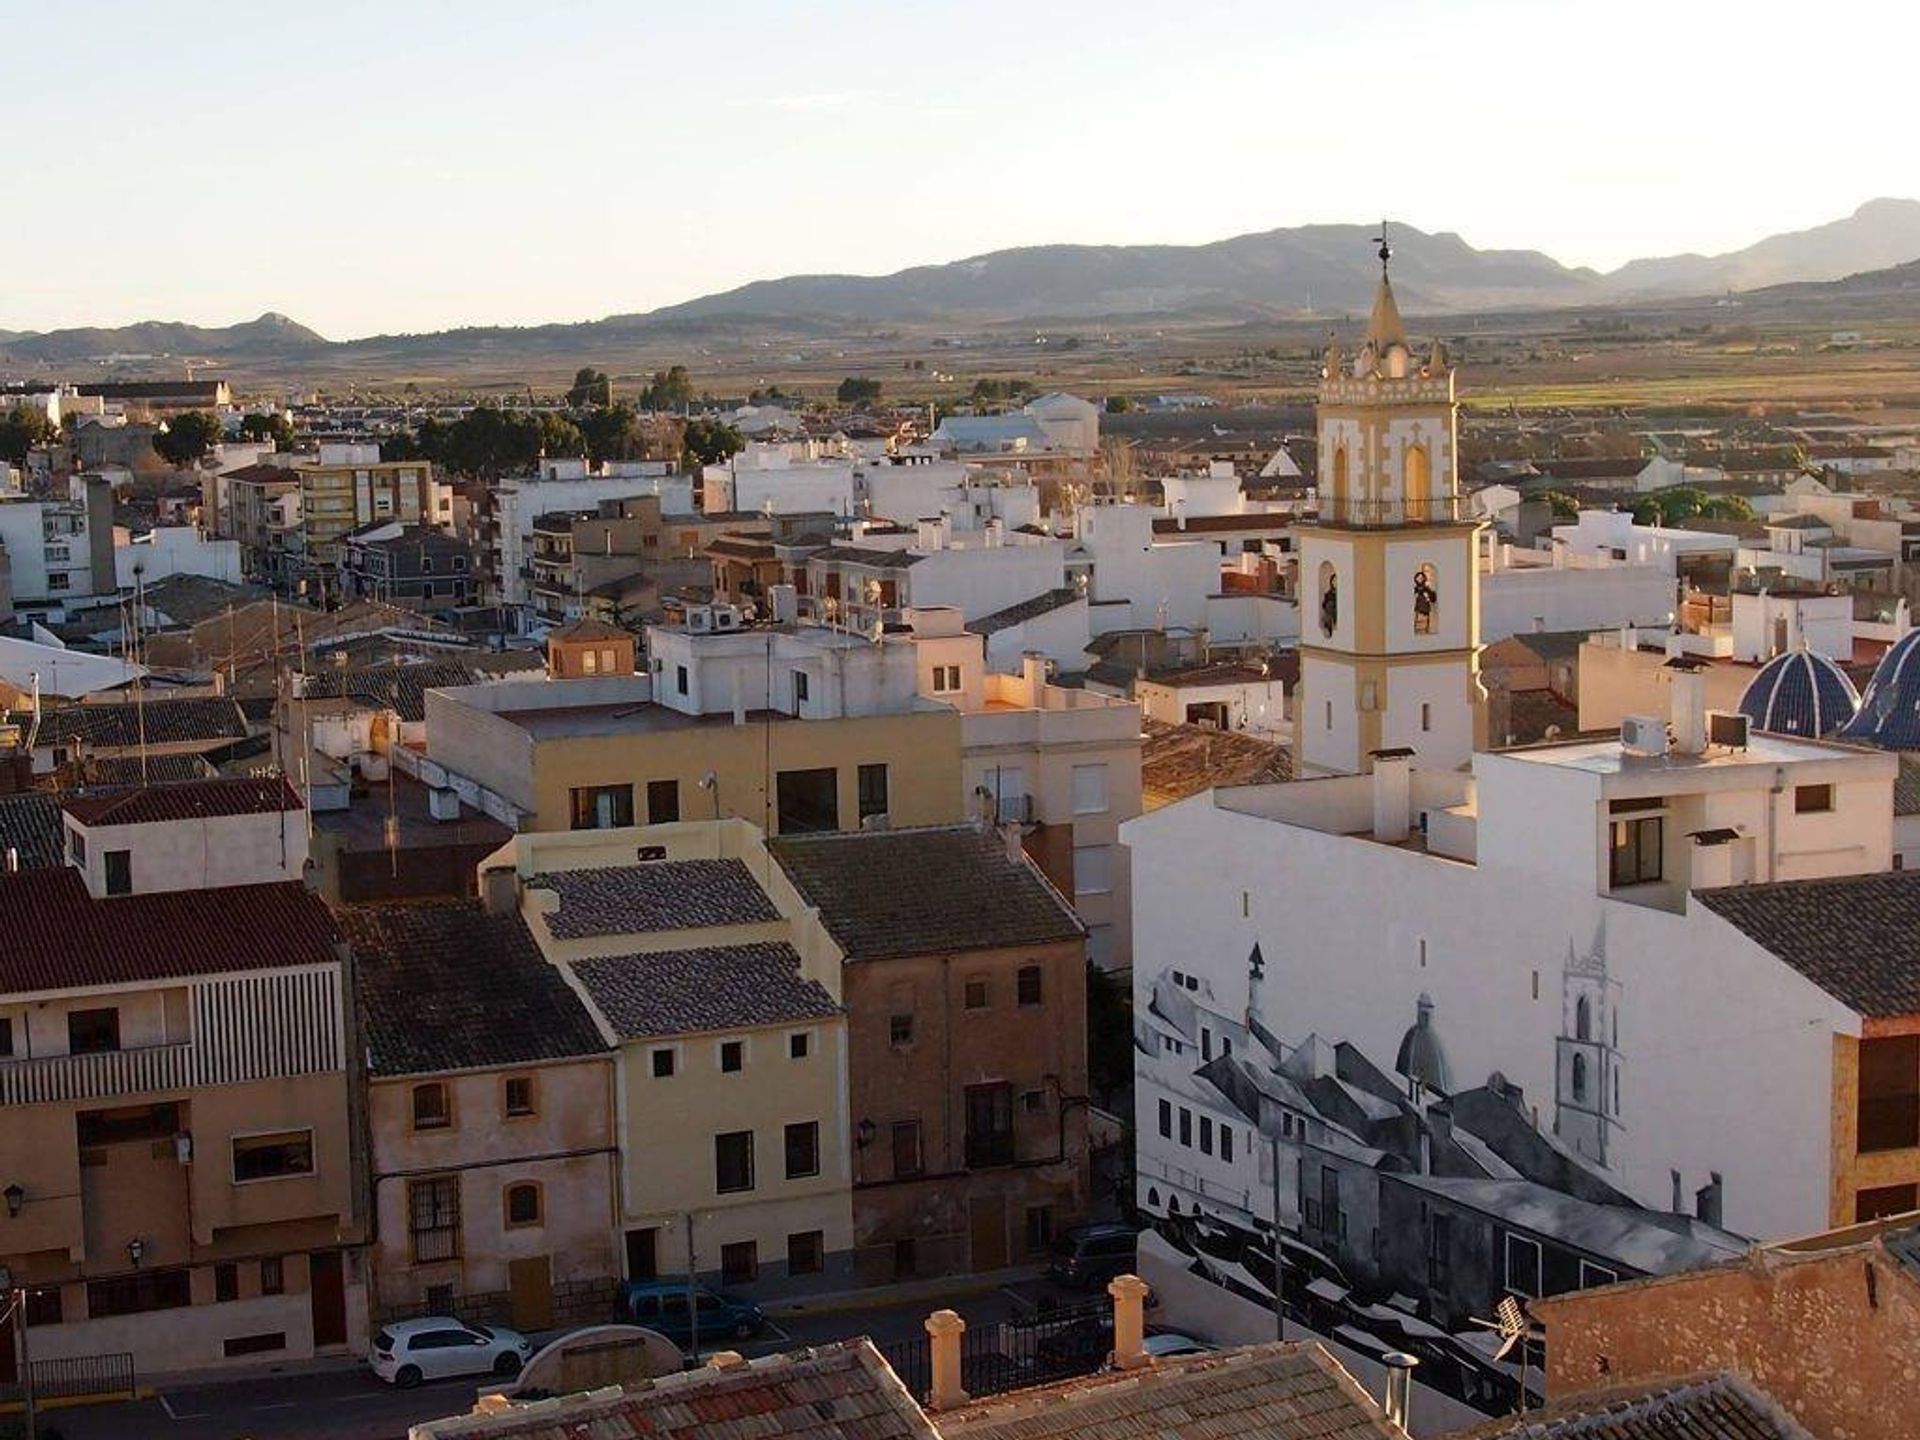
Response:
[{"label": "dark tiled roof of the low house left of the cream house", "polygon": [[566,977],[518,914],[474,900],[346,908],[367,1068],[484,1069],[605,1054]]}]

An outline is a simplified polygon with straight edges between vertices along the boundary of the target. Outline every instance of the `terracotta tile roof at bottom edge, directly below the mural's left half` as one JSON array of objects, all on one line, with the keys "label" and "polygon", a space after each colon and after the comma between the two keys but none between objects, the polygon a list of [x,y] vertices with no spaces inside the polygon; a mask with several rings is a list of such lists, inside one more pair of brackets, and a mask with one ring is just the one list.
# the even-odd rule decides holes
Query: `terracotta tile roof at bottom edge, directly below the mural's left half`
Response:
[{"label": "terracotta tile roof at bottom edge, directly below the mural's left half", "polygon": [[1400,1440],[1319,1346],[1263,1344],[1010,1390],[937,1417],[943,1440]]}]

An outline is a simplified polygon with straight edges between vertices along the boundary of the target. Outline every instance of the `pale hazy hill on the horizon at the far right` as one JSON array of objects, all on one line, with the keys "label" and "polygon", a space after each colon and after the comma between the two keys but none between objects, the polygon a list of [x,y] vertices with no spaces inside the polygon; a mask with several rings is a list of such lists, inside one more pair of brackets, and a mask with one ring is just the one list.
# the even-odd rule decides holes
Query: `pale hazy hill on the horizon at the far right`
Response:
[{"label": "pale hazy hill on the horizon at the far right", "polygon": [[1920,200],[1868,200],[1843,221],[1774,234],[1726,255],[1636,259],[1607,275],[1611,296],[1709,296],[1837,280],[1920,257]]}]

